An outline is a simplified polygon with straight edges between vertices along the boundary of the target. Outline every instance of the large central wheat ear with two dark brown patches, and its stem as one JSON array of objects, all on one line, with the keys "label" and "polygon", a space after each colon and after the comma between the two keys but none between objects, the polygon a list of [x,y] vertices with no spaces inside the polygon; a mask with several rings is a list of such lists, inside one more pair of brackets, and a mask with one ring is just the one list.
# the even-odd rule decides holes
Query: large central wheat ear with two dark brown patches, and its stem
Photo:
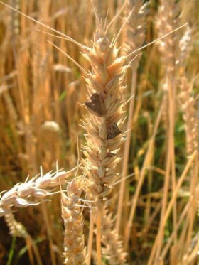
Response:
[{"label": "large central wheat ear with two dark brown patches, and its stem", "polygon": [[122,82],[127,69],[123,66],[125,57],[119,57],[116,48],[117,37],[109,41],[101,24],[98,23],[94,43],[82,54],[90,63],[92,72],[86,75],[87,102],[89,114],[83,126],[87,131],[83,153],[89,178],[88,192],[95,198],[97,207],[97,257],[101,264],[101,220],[104,198],[112,190],[112,183],[119,177],[116,166],[121,160],[119,146],[125,140],[120,130],[123,122]]}]

